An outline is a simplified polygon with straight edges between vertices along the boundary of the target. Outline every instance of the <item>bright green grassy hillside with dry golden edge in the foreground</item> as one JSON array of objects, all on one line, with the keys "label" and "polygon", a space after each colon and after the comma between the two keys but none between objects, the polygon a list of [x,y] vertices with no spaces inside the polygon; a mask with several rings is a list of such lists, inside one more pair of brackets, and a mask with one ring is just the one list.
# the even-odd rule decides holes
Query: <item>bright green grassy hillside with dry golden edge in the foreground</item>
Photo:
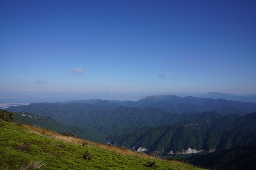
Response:
[{"label": "bright green grassy hillside with dry golden edge in the foreground", "polygon": [[[31,144],[31,151],[17,149],[25,142],[27,146]],[[65,147],[59,147],[60,145]],[[32,166],[28,169],[33,169],[33,165],[37,164],[43,164],[42,169],[48,170],[152,169],[148,167],[147,161],[156,161],[159,167],[155,169],[158,170],[200,170],[177,161],[165,161],[128,149],[66,137],[34,126],[19,126],[7,122],[0,127],[0,146],[0,169],[5,170],[20,170],[22,167],[24,169],[30,162]],[[83,158],[86,150],[91,153],[92,159]]]}]

